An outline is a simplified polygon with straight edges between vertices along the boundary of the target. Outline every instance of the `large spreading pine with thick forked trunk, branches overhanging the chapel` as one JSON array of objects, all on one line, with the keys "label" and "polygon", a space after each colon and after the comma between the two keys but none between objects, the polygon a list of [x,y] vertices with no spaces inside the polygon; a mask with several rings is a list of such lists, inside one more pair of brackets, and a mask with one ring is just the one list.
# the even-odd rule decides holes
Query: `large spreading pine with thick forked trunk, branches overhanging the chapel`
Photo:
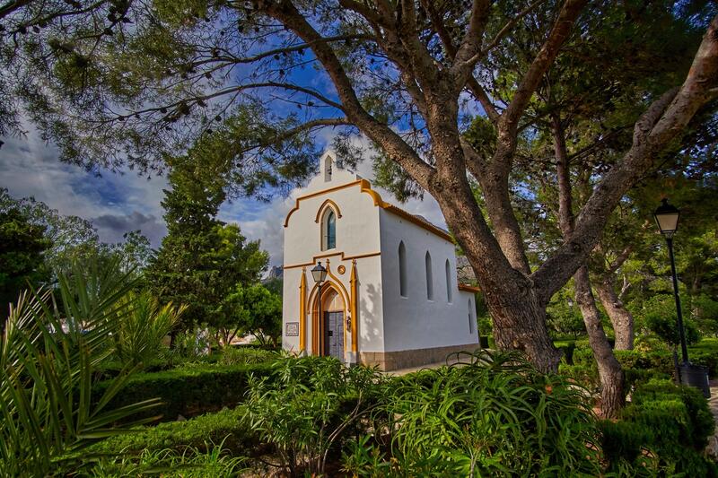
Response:
[{"label": "large spreading pine with thick forked trunk, branches overhanging the chapel", "polygon": [[[346,140],[360,133],[388,182],[440,204],[496,343],[542,369],[559,357],[548,301],[621,198],[718,97],[710,2],[70,5],[13,3],[0,17],[4,88],[67,161],[159,169],[211,144],[231,161],[238,194],[266,196],[311,169],[312,133],[337,128],[346,161],[355,159]],[[11,117],[17,108],[4,104]],[[464,135],[476,116],[478,143]],[[591,163],[590,187],[570,230],[532,267],[518,204],[534,198],[515,181],[536,160],[522,144],[552,128]],[[594,158],[606,144],[610,158]]]}]

